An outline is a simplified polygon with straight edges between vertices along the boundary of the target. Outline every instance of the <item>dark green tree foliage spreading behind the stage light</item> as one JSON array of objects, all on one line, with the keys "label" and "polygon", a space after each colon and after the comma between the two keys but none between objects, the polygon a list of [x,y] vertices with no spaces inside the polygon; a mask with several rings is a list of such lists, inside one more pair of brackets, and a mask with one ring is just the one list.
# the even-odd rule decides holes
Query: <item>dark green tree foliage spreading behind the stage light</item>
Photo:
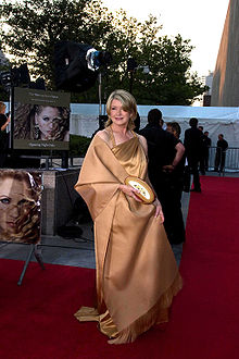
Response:
[{"label": "dark green tree foliage spreading behind the stage light", "polygon": [[[14,64],[27,62],[35,77],[43,77],[48,89],[54,89],[54,44],[73,40],[89,44],[98,50],[112,53],[113,61],[103,75],[103,92],[115,88],[130,88],[127,60],[134,58],[140,69],[130,75],[131,90],[138,103],[190,104],[204,91],[198,75],[191,74],[190,40],[180,35],[160,37],[156,17],[140,23],[121,10],[113,14],[101,0],[22,0],[0,5],[3,51]],[[73,100],[98,101],[98,84]]]}]

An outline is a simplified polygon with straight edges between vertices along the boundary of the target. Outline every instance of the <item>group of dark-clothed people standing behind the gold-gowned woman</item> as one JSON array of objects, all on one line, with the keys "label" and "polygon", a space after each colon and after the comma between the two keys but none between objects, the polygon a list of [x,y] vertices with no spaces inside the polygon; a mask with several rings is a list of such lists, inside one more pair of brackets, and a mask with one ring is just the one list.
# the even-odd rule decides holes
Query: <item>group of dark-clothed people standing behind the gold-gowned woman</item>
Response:
[{"label": "group of dark-clothed people standing behind the gold-gowned woman", "polygon": [[[148,124],[139,131],[147,138],[149,156],[149,177],[162,203],[164,226],[171,244],[185,242],[185,226],[181,212],[183,191],[201,193],[200,174],[209,171],[209,132],[198,125],[198,119],[189,121],[185,131],[177,122],[164,123],[162,112],[153,109],[148,113]],[[224,135],[218,135],[214,171],[223,172],[226,149]],[[192,186],[191,186],[192,177]]]}]

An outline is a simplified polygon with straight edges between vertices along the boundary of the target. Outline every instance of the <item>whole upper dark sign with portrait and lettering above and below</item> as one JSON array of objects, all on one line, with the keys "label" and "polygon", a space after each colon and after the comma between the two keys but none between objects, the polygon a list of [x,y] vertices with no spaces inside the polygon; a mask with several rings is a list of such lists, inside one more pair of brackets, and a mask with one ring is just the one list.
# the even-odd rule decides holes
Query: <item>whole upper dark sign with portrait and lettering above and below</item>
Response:
[{"label": "whole upper dark sign with portrait and lettering above and below", "polygon": [[68,150],[71,94],[14,88],[13,148]]}]

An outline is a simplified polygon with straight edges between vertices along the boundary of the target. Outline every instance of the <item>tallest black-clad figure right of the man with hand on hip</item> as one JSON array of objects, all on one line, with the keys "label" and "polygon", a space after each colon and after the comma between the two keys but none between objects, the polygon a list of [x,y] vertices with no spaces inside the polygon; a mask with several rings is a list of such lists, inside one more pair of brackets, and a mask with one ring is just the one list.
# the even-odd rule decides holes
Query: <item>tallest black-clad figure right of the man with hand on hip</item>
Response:
[{"label": "tallest black-clad figure right of the man with hand on hip", "polygon": [[[203,133],[198,128],[198,119],[192,117],[189,121],[191,128],[185,131],[185,149],[188,165],[185,172],[185,191],[201,193],[201,184],[199,177],[199,161],[202,153],[202,137]],[[193,176],[193,188],[190,189],[190,177]]]}]

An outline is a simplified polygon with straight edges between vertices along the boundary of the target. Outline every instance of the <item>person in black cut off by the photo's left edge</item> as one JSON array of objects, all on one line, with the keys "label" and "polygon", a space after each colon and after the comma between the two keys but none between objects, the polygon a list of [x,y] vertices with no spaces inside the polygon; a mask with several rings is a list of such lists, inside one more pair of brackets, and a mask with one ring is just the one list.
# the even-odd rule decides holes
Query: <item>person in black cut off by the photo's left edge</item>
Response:
[{"label": "person in black cut off by the photo's left edge", "polygon": [[5,165],[8,149],[9,149],[9,134],[7,127],[10,124],[10,115],[5,114],[5,103],[0,101],[0,169]]}]

